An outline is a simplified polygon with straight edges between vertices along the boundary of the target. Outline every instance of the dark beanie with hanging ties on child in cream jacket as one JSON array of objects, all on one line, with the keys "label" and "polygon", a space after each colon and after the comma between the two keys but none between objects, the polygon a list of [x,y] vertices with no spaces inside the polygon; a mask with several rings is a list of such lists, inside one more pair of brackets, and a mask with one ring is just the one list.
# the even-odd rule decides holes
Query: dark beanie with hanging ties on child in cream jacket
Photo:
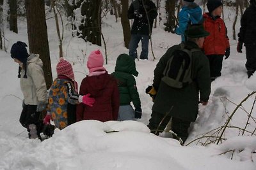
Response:
[{"label": "dark beanie with hanging ties on child in cream jacket", "polygon": [[[13,59],[20,60],[20,62],[23,63],[24,69],[25,69],[25,74],[24,78],[27,78],[27,58],[28,58],[28,51],[26,48],[26,43],[17,41],[17,43],[14,43],[11,48],[11,57]],[[19,67],[19,75],[18,77],[20,78],[20,71],[21,68]]]}]

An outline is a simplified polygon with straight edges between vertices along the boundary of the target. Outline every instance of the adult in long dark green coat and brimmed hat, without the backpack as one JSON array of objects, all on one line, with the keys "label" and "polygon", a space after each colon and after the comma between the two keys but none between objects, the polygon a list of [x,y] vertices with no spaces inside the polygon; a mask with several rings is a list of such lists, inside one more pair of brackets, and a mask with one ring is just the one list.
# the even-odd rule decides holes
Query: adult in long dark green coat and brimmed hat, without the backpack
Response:
[{"label": "adult in long dark green coat and brimmed hat, without the backpack", "polygon": [[[209,35],[209,32],[206,32],[202,25],[191,25],[185,34],[188,36],[188,41],[184,43],[184,48],[192,50],[202,48],[204,38]],[[166,63],[172,53],[181,48],[180,46],[174,45],[169,48],[154,70],[153,90],[155,89],[157,94],[148,127],[151,132],[158,135],[172,118],[172,131],[184,142],[188,138],[190,123],[195,122],[198,115],[198,101],[204,105],[207,104],[211,93],[211,76],[209,61],[204,53],[198,50],[191,56],[192,83],[181,89],[170,87],[164,83],[162,78]],[[160,123],[161,125],[159,125]]]}]

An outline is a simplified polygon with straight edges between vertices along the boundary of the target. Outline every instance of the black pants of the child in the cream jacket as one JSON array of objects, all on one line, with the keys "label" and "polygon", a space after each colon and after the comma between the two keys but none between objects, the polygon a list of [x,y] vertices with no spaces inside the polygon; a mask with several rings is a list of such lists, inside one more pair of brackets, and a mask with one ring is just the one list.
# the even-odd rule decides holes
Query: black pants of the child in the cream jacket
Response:
[{"label": "black pants of the child in the cream jacket", "polygon": [[28,132],[28,126],[30,124],[35,124],[37,135],[40,137],[40,133],[42,132],[44,124],[41,118],[41,112],[36,111],[36,107],[36,105],[23,105],[23,110],[20,114],[20,124],[28,129]]}]

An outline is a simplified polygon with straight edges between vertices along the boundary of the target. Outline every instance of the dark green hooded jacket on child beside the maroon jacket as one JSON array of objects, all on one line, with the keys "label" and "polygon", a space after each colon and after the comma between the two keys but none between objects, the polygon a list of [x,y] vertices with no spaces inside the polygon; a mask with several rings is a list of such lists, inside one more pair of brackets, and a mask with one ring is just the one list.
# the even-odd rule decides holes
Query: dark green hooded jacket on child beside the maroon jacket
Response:
[{"label": "dark green hooded jacket on child beside the maroon jacket", "polygon": [[119,55],[116,59],[115,72],[112,75],[118,82],[120,105],[129,105],[132,101],[135,108],[140,108],[140,97],[134,78],[138,76],[138,71],[136,71],[134,59],[127,54]]}]

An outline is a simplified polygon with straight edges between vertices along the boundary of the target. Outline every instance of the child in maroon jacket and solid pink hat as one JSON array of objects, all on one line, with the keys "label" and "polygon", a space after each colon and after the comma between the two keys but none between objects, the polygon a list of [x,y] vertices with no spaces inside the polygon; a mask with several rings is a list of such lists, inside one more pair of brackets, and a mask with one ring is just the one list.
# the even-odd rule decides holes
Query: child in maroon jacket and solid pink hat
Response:
[{"label": "child in maroon jacket and solid pink hat", "polygon": [[76,120],[99,120],[106,122],[117,120],[120,105],[118,85],[113,76],[103,67],[103,56],[100,50],[90,53],[87,61],[89,75],[80,85],[80,95],[91,94],[95,99],[92,107],[77,105]]}]

